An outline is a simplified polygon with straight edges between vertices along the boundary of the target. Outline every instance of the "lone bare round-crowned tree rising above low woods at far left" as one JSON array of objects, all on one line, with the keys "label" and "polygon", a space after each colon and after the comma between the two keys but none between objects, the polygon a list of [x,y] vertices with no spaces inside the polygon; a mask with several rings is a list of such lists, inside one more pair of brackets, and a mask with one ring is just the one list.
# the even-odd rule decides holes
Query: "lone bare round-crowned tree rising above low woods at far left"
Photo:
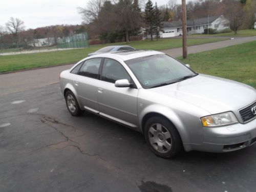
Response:
[{"label": "lone bare round-crowned tree rising above low woods at far left", "polygon": [[24,22],[19,18],[11,17],[9,22],[6,23],[6,28],[9,31],[9,33],[12,34],[16,46],[18,47],[18,33],[24,30]]}]

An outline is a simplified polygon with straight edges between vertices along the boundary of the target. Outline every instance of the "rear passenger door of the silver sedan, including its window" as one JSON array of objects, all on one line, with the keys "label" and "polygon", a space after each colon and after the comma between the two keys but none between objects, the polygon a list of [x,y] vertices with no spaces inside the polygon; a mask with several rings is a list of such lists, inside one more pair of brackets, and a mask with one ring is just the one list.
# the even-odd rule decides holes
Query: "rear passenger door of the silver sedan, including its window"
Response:
[{"label": "rear passenger door of the silver sedan, including its window", "polygon": [[84,109],[99,113],[97,89],[100,86],[99,68],[102,58],[92,58],[83,62],[74,81],[79,100]]}]

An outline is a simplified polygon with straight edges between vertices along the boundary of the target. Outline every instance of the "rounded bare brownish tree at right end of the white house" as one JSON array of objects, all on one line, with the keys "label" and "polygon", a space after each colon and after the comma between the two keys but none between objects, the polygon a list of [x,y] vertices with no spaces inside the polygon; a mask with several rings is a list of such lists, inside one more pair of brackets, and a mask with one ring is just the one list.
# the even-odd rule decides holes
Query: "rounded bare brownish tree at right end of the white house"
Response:
[{"label": "rounded bare brownish tree at right end of the white house", "polygon": [[229,28],[237,34],[238,29],[243,25],[244,12],[240,2],[225,0],[224,16],[229,20]]}]

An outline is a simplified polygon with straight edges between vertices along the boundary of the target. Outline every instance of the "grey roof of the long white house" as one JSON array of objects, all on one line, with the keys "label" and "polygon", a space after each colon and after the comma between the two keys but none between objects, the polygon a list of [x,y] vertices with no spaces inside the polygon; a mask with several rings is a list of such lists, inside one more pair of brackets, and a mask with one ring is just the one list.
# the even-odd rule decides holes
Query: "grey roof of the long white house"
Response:
[{"label": "grey roof of the long white house", "polygon": [[[220,16],[209,17],[209,24],[214,22],[219,17]],[[197,18],[197,19],[194,19],[194,20],[187,20],[187,27],[198,26],[198,25],[206,25],[206,24],[208,24],[208,17]],[[163,22],[163,28],[174,28],[174,27],[182,27],[181,20],[175,21],[175,22]]]}]

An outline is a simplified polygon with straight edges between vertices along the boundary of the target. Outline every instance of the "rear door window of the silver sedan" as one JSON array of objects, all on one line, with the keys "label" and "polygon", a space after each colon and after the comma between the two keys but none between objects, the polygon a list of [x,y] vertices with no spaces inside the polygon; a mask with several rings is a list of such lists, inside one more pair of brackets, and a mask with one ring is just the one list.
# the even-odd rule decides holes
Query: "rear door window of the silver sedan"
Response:
[{"label": "rear door window of the silver sedan", "polygon": [[101,58],[93,58],[84,61],[78,75],[98,79],[100,62]]}]

